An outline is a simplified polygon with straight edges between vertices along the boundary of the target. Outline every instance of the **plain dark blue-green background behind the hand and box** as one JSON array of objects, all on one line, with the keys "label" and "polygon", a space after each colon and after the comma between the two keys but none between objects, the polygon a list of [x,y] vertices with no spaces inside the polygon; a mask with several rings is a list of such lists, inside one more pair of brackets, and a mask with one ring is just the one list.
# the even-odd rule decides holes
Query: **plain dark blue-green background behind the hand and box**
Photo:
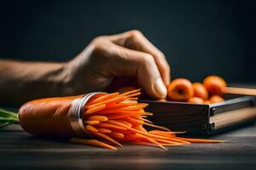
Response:
[{"label": "plain dark blue-green background behind the hand and box", "polygon": [[256,82],[256,1],[1,1],[0,56],[64,61],[93,37],[143,31],[172,77]]}]

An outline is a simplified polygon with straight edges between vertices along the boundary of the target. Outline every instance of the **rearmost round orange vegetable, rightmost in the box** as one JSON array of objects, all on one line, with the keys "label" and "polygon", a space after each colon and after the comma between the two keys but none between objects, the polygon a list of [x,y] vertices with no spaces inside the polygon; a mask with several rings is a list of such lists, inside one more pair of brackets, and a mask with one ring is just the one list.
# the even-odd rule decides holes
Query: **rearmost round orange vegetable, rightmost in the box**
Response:
[{"label": "rearmost round orange vegetable, rightmost in the box", "polygon": [[223,78],[217,77],[217,76],[209,76],[206,77],[203,82],[205,88],[207,88],[207,91],[209,94],[217,94],[217,95],[223,95],[224,90],[227,86],[227,83],[224,81]]}]

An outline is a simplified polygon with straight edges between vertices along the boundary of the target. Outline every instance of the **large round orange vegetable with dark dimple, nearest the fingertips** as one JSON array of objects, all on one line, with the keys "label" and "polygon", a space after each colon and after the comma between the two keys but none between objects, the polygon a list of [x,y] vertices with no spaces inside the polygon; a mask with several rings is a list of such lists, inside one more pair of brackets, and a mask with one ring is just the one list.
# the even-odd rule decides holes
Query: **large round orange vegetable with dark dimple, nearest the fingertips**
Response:
[{"label": "large round orange vegetable with dark dimple, nearest the fingertips", "polygon": [[188,101],[193,97],[193,87],[191,82],[185,78],[173,80],[167,87],[168,97],[174,101]]}]

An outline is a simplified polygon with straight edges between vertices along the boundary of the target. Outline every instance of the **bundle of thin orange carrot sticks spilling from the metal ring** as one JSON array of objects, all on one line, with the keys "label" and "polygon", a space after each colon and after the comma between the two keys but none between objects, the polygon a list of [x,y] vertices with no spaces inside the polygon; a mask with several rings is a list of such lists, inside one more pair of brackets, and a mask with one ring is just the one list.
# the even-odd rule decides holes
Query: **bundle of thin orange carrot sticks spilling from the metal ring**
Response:
[{"label": "bundle of thin orange carrot sticks spilling from the metal ring", "polygon": [[[152,113],[144,111],[148,104],[138,103],[137,96],[140,89],[131,90],[123,94],[102,94],[91,98],[84,105],[84,129],[89,133],[89,139],[72,138],[70,141],[78,144],[89,144],[117,150],[116,146],[123,144],[141,144],[166,149],[190,143],[219,143],[224,140],[189,139],[177,137],[177,133],[166,127],[160,127],[150,122],[147,117]],[[153,127],[147,131],[145,127]]]}]

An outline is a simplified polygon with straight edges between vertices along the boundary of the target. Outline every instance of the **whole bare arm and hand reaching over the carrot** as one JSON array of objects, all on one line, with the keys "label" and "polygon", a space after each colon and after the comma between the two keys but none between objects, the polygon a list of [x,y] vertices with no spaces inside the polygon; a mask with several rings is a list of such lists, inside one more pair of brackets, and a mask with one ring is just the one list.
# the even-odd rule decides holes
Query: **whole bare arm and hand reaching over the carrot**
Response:
[{"label": "whole bare arm and hand reaching over the carrot", "polygon": [[166,97],[170,66],[140,31],[96,37],[65,63],[0,59],[0,103],[102,90],[113,77],[134,77],[155,99]]}]

